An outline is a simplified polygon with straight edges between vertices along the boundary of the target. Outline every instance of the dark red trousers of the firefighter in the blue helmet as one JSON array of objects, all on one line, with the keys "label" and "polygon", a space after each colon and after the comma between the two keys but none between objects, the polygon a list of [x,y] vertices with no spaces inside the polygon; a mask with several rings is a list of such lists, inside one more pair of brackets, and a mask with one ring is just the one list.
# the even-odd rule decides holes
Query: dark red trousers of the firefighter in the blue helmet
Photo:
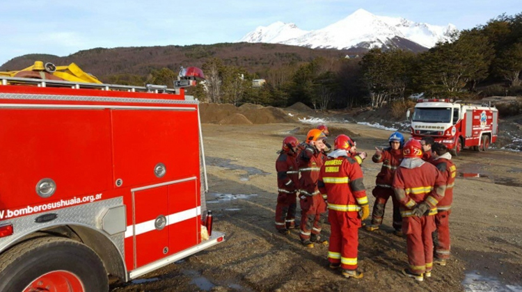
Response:
[{"label": "dark red trousers of the firefighter in the blue helmet", "polygon": [[383,188],[376,186],[372,190],[372,195],[375,197],[372,211],[372,225],[381,225],[384,217],[384,209],[386,209],[386,202],[392,198],[393,203],[393,228],[399,231],[402,227],[402,216],[400,212],[400,203],[395,199],[393,188]]}]

